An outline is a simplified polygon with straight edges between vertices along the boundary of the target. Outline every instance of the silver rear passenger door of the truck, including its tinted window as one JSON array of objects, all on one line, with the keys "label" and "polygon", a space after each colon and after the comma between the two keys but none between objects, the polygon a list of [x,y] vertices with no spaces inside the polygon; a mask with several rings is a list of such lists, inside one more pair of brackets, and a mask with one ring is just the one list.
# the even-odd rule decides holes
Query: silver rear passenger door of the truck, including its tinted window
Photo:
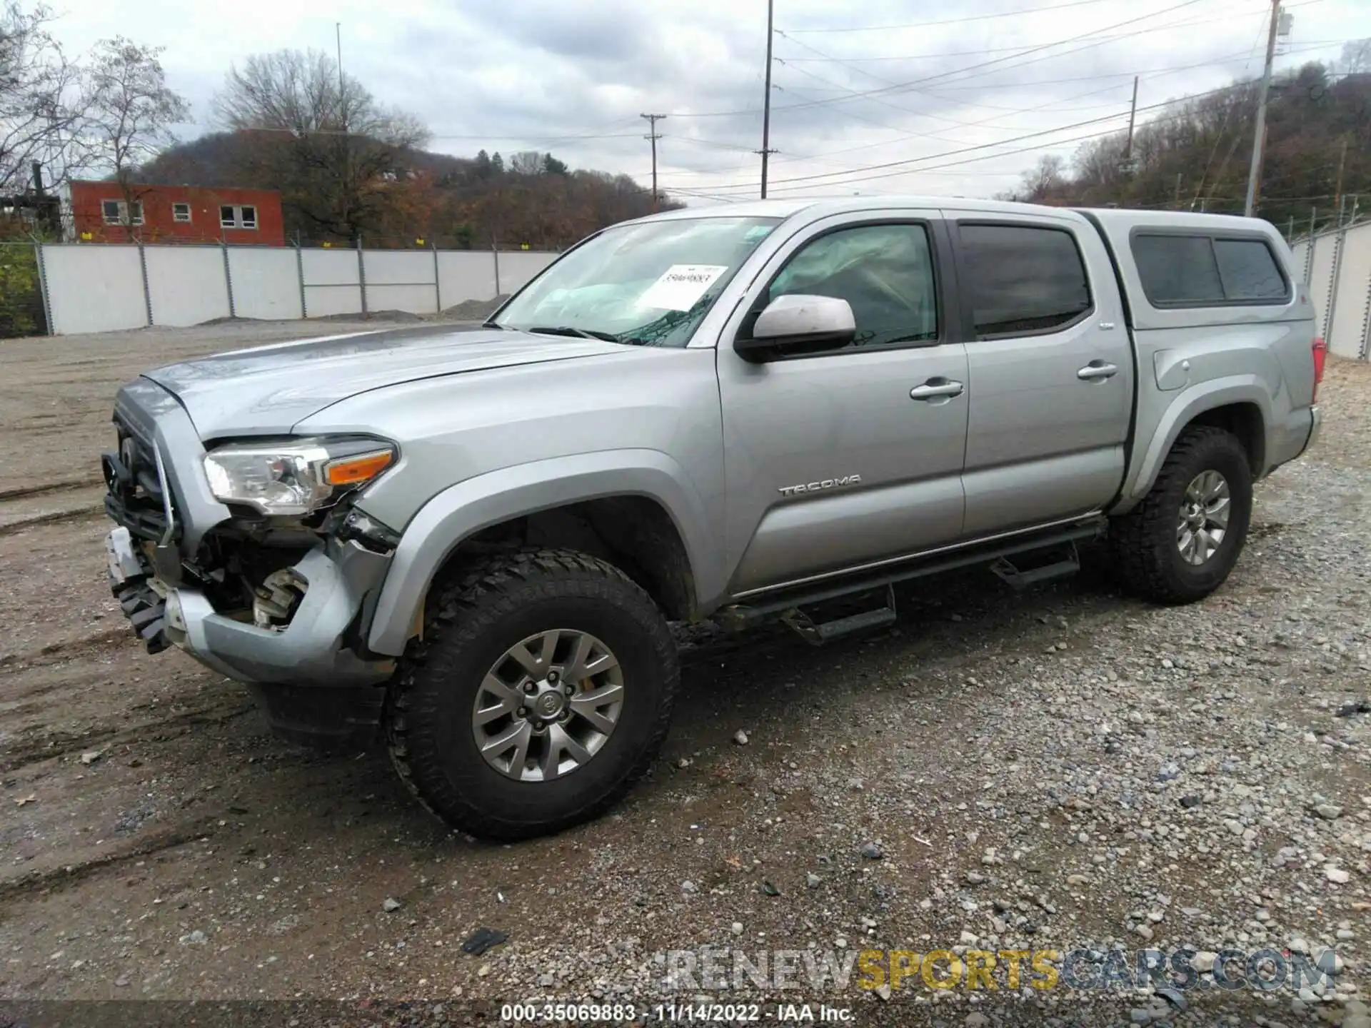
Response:
[{"label": "silver rear passenger door of the truck, including its tinted window", "polygon": [[965,535],[1086,514],[1124,473],[1132,345],[1100,236],[1079,218],[953,225],[971,388]]}]

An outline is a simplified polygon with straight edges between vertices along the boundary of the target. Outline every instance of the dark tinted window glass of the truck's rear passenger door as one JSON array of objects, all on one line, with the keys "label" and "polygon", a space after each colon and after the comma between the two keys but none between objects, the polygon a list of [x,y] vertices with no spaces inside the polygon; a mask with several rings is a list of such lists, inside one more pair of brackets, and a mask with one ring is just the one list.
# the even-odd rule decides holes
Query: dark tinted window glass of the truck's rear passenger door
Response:
[{"label": "dark tinted window glass of the truck's rear passenger door", "polygon": [[1093,306],[1086,265],[1064,229],[961,225],[976,339],[1053,332]]}]

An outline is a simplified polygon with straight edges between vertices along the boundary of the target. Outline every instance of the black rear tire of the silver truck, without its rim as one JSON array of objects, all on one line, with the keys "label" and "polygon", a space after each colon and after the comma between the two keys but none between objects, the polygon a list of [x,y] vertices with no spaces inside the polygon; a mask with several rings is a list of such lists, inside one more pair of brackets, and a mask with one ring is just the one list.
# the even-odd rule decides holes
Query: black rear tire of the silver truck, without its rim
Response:
[{"label": "black rear tire of the silver truck, without its rim", "polygon": [[[1186,487],[1202,472],[1228,482],[1228,528],[1202,565],[1187,563],[1176,546],[1176,518]],[[1109,525],[1115,573],[1123,587],[1156,603],[1194,603],[1217,589],[1233,570],[1252,518],[1252,469],[1242,443],[1220,428],[1197,425],[1180,433],[1157,481],[1142,502]]]}]

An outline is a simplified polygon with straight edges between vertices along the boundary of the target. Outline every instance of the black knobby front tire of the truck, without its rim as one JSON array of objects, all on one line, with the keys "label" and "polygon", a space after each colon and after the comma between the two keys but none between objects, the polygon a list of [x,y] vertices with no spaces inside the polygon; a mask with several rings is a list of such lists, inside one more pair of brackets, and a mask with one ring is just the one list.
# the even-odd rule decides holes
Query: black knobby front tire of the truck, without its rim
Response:
[{"label": "black knobby front tire of the truck, without its rim", "polygon": [[[624,669],[624,706],[603,748],[554,781],[515,781],[491,768],[472,736],[481,678],[520,639],[579,628]],[[451,827],[485,839],[528,839],[592,820],[648,769],[680,683],[676,644],[651,598],[613,565],[570,550],[521,550],[435,581],[424,633],[399,662],[387,743],[400,779]]]}]

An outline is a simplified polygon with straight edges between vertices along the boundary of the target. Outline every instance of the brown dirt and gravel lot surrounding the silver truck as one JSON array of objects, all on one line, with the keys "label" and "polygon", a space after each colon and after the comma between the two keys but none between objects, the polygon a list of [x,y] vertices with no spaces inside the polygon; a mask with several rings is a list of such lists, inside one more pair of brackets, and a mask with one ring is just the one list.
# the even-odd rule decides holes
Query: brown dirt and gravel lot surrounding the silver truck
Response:
[{"label": "brown dirt and gravel lot surrounding the silver truck", "polygon": [[[1371,366],[1330,362],[1320,447],[1259,487],[1208,602],[968,576],[824,650],[706,639],[650,779],[596,824],[510,847],[446,832],[381,754],[274,740],[241,687],[147,655],[104,584],[96,470],[121,381],[374,328],[0,344],[0,999],[422,998],[406,1017],[463,1024],[477,1001],[643,1012],[672,994],[662,954],[703,946],[1121,947],[1130,965],[1143,947],[1335,946],[1341,973],[1302,998],[1023,986],[1009,1003],[917,975],[873,991],[861,972],[790,991],[683,979],[676,995],[823,999],[856,1024],[1368,1024]],[[509,940],[462,953],[478,927]],[[165,1007],[95,1009],[67,1023]],[[287,1010],[265,1016],[306,1023]]]}]

